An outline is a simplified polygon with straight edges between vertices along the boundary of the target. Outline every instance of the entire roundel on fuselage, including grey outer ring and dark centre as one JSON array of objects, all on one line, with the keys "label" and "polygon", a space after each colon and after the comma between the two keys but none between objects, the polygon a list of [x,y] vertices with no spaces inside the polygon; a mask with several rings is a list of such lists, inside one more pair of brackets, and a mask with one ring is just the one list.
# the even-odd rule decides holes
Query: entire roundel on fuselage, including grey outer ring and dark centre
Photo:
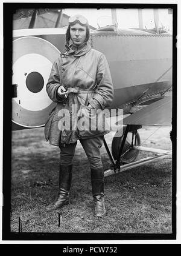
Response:
[{"label": "entire roundel on fuselage, including grey outer ring and dark centre", "polygon": [[60,51],[50,42],[35,36],[13,41],[12,84],[17,97],[12,99],[12,122],[15,129],[42,127],[53,103],[46,93],[46,83],[53,62]]}]

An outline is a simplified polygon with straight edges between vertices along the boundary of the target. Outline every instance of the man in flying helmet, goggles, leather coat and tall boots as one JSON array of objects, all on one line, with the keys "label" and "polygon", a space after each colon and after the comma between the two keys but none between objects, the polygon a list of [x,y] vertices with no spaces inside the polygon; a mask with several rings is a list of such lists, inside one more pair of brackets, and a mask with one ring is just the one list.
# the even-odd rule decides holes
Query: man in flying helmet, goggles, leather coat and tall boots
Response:
[{"label": "man in flying helmet, goggles, leather coat and tall boots", "polygon": [[50,144],[60,147],[59,196],[54,203],[46,207],[46,211],[60,209],[69,203],[72,158],[77,140],[80,140],[90,163],[95,215],[102,217],[106,214],[106,209],[100,147],[107,130],[81,130],[78,125],[76,129],[72,129],[74,125],[71,129],[60,129],[61,111],[68,110],[66,116],[69,116],[72,124],[73,116],[83,112],[89,113],[92,109],[103,110],[109,107],[113,100],[113,85],[106,57],[103,53],[91,49],[88,40],[87,19],[81,15],[69,18],[66,32],[67,52],[61,54],[54,62],[46,85],[49,98],[56,102],[57,106],[46,122],[45,138]]}]

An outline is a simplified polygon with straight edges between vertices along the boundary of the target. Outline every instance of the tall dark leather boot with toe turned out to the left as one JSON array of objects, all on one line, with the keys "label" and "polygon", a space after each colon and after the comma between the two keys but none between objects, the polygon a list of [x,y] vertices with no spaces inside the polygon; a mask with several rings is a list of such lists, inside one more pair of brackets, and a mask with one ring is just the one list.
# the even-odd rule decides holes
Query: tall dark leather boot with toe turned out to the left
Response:
[{"label": "tall dark leather boot with toe turned out to the left", "polygon": [[71,188],[72,180],[72,165],[62,166],[60,164],[59,170],[59,194],[54,203],[46,206],[46,211],[56,211],[62,206],[69,204],[69,190]]}]

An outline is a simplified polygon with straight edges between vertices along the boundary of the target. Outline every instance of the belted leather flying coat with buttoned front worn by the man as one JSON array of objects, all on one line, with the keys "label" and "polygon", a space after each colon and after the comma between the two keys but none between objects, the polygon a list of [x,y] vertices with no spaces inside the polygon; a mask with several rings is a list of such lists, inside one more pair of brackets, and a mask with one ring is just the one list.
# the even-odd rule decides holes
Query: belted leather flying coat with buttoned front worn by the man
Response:
[{"label": "belted leather flying coat with buttoned front worn by the man", "polygon": [[[67,98],[57,94],[60,85],[68,88]],[[50,144],[59,146],[60,143],[75,143],[79,139],[109,132],[104,129],[82,130],[72,122],[78,118],[77,113],[91,111],[87,104],[94,109],[103,110],[113,100],[112,78],[106,57],[91,49],[89,44],[86,43],[80,50],[74,51],[70,48],[68,52],[60,54],[52,65],[46,92],[57,103],[45,124],[45,138]],[[71,119],[71,127],[62,130],[63,123],[60,120],[65,121],[66,118]],[[74,129],[70,129],[72,126],[75,126]]]}]

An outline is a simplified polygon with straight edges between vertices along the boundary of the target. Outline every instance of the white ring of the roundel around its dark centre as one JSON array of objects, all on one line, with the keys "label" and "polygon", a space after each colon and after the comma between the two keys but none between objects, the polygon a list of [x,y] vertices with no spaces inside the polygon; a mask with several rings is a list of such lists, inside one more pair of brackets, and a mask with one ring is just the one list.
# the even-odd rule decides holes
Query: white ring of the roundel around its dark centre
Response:
[{"label": "white ring of the roundel around its dark centre", "polygon": [[[46,93],[46,83],[51,67],[52,62],[37,53],[26,54],[17,59],[13,64],[13,84],[17,84],[17,98],[14,98],[14,102],[30,111],[39,111],[48,107],[52,101]],[[32,89],[37,91],[40,87],[40,84],[37,84],[31,75],[31,73],[34,74],[35,72],[42,76],[45,84],[42,90],[37,93],[32,92]],[[28,79],[29,88],[27,87],[28,76],[32,78],[31,84],[30,79]]]}]

